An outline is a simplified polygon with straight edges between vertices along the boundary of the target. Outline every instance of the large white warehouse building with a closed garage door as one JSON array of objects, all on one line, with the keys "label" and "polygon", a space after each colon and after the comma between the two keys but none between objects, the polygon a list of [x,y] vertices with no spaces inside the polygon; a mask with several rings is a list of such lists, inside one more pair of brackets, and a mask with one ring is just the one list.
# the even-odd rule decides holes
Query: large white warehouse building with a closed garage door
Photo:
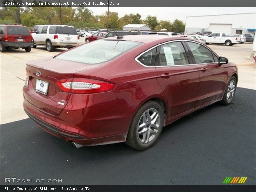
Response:
[{"label": "large white warehouse building with a closed garage door", "polygon": [[186,17],[185,34],[211,31],[230,34],[255,35],[256,13],[237,13]]}]

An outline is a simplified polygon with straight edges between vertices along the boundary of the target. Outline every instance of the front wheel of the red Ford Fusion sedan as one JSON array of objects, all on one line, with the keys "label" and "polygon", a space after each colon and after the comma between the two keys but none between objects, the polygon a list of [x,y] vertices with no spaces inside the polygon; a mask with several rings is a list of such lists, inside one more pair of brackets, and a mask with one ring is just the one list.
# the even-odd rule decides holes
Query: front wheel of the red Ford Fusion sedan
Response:
[{"label": "front wheel of the red Ford Fusion sedan", "polygon": [[232,76],[228,81],[223,98],[221,100],[221,104],[229,105],[233,101],[236,93],[236,83],[236,77]]}]

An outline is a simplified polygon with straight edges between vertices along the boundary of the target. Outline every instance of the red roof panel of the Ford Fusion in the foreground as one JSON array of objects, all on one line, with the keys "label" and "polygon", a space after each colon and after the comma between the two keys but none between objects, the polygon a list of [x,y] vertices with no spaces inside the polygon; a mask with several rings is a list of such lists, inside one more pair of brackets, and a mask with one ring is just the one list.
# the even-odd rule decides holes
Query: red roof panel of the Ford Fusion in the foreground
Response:
[{"label": "red roof panel of the Ford Fusion in the foreground", "polygon": [[117,39],[117,37],[108,37],[105,38],[106,40],[123,40],[123,41],[137,41],[141,43],[150,43],[154,41],[158,42],[166,42],[176,39],[184,39],[188,40],[184,37],[178,37],[178,36],[165,36],[165,35],[125,35],[123,38]]}]

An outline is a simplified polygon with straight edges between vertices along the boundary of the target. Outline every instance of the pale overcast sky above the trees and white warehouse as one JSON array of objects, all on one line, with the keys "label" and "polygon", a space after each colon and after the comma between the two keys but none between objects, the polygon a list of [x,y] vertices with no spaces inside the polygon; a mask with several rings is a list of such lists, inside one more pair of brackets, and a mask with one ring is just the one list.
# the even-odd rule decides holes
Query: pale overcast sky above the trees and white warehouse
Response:
[{"label": "pale overcast sky above the trees and white warehouse", "polygon": [[[88,7],[94,15],[104,14],[107,7]],[[142,19],[147,15],[156,16],[158,20],[173,21],[176,18],[186,22],[187,16],[219,15],[232,13],[256,12],[256,7],[109,7],[109,11],[118,12],[118,16],[139,13]]]}]

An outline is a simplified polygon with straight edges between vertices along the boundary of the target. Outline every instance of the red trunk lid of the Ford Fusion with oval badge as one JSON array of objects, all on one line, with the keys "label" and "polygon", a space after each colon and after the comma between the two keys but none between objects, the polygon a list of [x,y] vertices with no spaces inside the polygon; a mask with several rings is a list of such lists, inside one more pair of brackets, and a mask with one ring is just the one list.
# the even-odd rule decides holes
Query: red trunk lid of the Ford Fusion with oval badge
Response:
[{"label": "red trunk lid of the Ford Fusion with oval badge", "polygon": [[[24,97],[36,108],[57,116],[67,105],[71,93],[61,91],[56,81],[73,78],[74,73],[78,71],[95,68],[100,65],[101,64],[89,65],[57,58],[30,61],[26,66],[29,84],[28,88],[24,89]],[[37,79],[48,82],[48,89],[45,95],[35,90],[36,84],[39,82]],[[42,85],[47,86],[45,84]],[[38,86],[39,85],[37,85],[37,87]]]}]

